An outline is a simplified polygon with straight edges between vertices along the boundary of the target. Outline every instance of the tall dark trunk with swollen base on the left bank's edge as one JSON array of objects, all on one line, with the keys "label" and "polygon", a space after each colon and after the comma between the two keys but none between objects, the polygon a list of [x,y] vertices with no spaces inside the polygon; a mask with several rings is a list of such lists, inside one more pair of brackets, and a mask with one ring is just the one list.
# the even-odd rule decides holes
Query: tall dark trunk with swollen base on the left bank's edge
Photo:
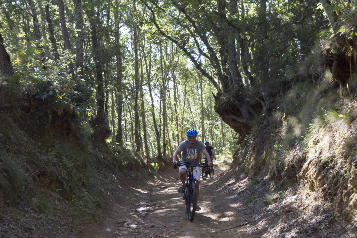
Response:
[{"label": "tall dark trunk with swollen base on the left bank's edge", "polygon": [[[58,0],[61,1],[61,0]],[[91,31],[91,39],[92,39],[92,47],[93,47],[93,58],[95,62],[95,72],[96,72],[96,84],[97,84],[97,115],[94,120],[94,134],[93,137],[97,141],[104,141],[105,138],[110,134],[110,129],[106,124],[105,117],[105,105],[104,105],[104,82],[103,82],[103,74],[102,74],[102,66],[100,59],[100,48],[97,39],[97,31],[96,31],[96,19],[94,10],[89,10],[89,22],[90,22],[90,31]]]}]

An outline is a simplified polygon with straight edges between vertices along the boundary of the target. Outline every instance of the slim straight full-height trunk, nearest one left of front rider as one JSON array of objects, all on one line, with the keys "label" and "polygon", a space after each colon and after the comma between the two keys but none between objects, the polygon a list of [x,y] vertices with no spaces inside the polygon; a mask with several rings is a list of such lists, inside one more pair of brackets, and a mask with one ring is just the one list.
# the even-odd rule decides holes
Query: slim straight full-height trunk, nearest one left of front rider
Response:
[{"label": "slim straight full-height trunk, nearest one left of front rider", "polygon": [[[136,12],[136,4],[134,0],[134,12]],[[139,111],[138,111],[138,99],[139,99],[139,56],[138,56],[138,41],[139,41],[139,36],[138,36],[138,29],[139,27],[137,26],[136,22],[134,22],[133,26],[134,30],[134,61],[135,61],[135,66],[134,66],[134,79],[135,79],[135,101],[134,101],[134,123],[135,123],[135,143],[136,143],[136,152],[140,152],[140,138],[139,138],[139,130],[138,130],[138,125],[139,125]]]}]

